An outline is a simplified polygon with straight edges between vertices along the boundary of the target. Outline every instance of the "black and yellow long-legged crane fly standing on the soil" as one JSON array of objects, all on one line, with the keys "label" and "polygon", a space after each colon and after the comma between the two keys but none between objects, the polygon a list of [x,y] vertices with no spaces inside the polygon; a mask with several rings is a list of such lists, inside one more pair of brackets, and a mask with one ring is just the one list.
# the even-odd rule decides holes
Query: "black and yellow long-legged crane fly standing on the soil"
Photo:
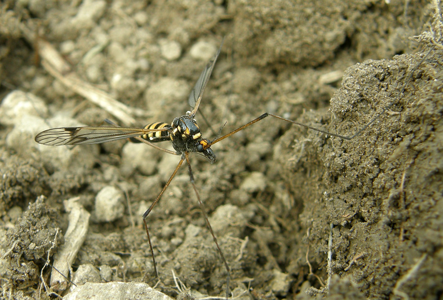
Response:
[{"label": "black and yellow long-legged crane fly standing on the soil", "polygon": [[[221,43],[223,44],[223,43]],[[361,132],[363,132],[367,127],[369,127],[374,121],[380,117],[381,114],[383,114],[387,109],[389,109],[392,104],[397,100],[401,94],[404,92],[406,88],[406,84],[403,86],[403,88],[398,93],[397,97],[380,113],[378,113],[375,117],[373,117],[365,126],[363,126],[360,130],[358,130],[355,134],[351,136],[342,136],[335,133],[330,133],[306,124],[302,124],[281,116],[278,116],[276,114],[266,112],[259,117],[253,119],[251,122],[235,129],[234,131],[231,131],[230,133],[223,135],[221,137],[216,136],[213,140],[209,140],[206,138],[203,138],[200,132],[200,128],[197,125],[197,121],[195,120],[195,114],[198,110],[198,107],[200,106],[200,102],[202,99],[203,91],[209,81],[209,78],[212,74],[212,71],[214,69],[215,63],[217,61],[217,58],[220,55],[221,46],[219,50],[217,51],[216,55],[208,62],[208,64],[203,69],[203,72],[200,74],[200,77],[198,78],[197,82],[195,83],[195,86],[192,88],[188,103],[190,105],[190,108],[192,110],[187,111],[186,114],[175,118],[171,124],[163,123],[163,122],[156,122],[146,125],[144,128],[134,128],[134,127],[118,127],[118,126],[102,126],[102,127],[61,127],[61,128],[53,128],[48,129],[45,131],[42,131],[37,136],[35,136],[35,141],[43,144],[43,145],[51,145],[51,146],[61,146],[61,145],[88,145],[88,144],[99,144],[104,142],[110,142],[115,141],[119,139],[124,138],[130,138],[133,141],[138,142],[144,142],[152,147],[155,147],[161,151],[164,151],[169,154],[178,155],[181,157],[179,163],[175,167],[174,171],[172,172],[172,175],[169,177],[165,185],[163,186],[162,190],[158,194],[157,198],[153,201],[151,206],[146,210],[146,212],[143,214],[143,224],[146,230],[146,235],[148,237],[148,243],[151,250],[151,256],[154,264],[154,272],[155,276],[158,277],[157,272],[157,266],[156,266],[156,259],[154,255],[153,246],[151,243],[151,237],[149,234],[148,224],[146,222],[146,218],[150,214],[150,212],[154,209],[156,204],[158,203],[160,197],[163,195],[163,193],[168,188],[169,184],[171,183],[174,176],[177,174],[178,169],[182,166],[183,162],[186,161],[186,164],[188,165],[188,171],[190,176],[190,183],[192,185],[192,188],[195,192],[197,201],[199,203],[200,209],[202,211],[202,214],[205,218],[206,224],[209,228],[209,231],[212,235],[212,238],[214,240],[214,243],[217,247],[217,251],[220,254],[221,261],[226,269],[227,273],[227,280],[226,280],[226,297],[229,293],[229,281],[230,281],[230,269],[228,266],[228,263],[224,257],[223,251],[221,250],[221,247],[218,243],[217,237],[214,234],[214,231],[212,229],[212,226],[209,222],[208,216],[206,214],[205,206],[203,202],[200,199],[200,195],[198,193],[197,187],[194,182],[194,176],[189,160],[189,154],[190,153],[196,153],[201,156],[203,156],[206,160],[208,160],[211,164],[213,164],[216,161],[216,155],[211,149],[211,146],[220,142],[221,140],[232,136],[239,131],[244,130],[245,128],[251,126],[252,124],[263,120],[264,118],[268,116],[272,116],[274,118],[283,120],[288,123],[296,124],[299,126],[306,127],[308,129],[312,129],[315,131],[318,131],[320,133],[324,133],[329,136],[336,136],[342,139],[350,140],[354,138],[355,136],[360,135]],[[427,55],[426,55],[427,56]],[[425,56],[425,57],[426,57]],[[424,58],[425,58],[424,57]],[[423,58],[423,60],[424,60]],[[412,70],[409,80],[412,77],[413,71],[418,68],[418,66],[423,62],[420,61],[418,65],[415,66],[415,68]],[[219,133],[220,135],[220,133]],[[157,146],[155,143],[162,142],[162,141],[170,141],[172,143],[172,147],[175,151],[171,151],[162,147]]]}]

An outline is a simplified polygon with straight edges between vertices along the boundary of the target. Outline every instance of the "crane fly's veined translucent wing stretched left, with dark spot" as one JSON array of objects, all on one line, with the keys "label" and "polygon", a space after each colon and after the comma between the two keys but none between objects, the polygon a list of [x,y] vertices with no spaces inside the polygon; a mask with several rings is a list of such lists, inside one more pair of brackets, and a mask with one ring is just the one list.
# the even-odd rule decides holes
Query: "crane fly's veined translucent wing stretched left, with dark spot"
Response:
[{"label": "crane fly's veined translucent wing stretched left, with dark spot", "polygon": [[133,127],[60,127],[42,131],[35,136],[39,144],[50,146],[89,145],[110,142],[128,137],[166,131],[168,128],[145,129]]}]

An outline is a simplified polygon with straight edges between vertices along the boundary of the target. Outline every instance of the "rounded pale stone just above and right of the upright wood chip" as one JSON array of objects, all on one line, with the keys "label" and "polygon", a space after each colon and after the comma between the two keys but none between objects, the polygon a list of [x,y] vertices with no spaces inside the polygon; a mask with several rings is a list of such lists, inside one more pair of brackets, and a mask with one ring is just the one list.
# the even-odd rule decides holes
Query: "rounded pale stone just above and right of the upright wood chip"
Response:
[{"label": "rounded pale stone just above and right of the upright wood chip", "polygon": [[107,186],[95,196],[95,218],[99,222],[111,222],[123,217],[125,206],[122,191]]}]

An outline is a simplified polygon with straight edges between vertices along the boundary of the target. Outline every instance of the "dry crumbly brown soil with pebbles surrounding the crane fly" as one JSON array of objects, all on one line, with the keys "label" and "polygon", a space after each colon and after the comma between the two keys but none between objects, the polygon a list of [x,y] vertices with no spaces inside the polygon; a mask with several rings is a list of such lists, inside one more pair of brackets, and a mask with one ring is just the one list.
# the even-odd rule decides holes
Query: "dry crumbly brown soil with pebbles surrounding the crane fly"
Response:
[{"label": "dry crumbly brown soil with pebbles surrounding the crane fly", "polygon": [[[0,4],[1,99],[27,92],[0,108],[4,299],[69,292],[46,291],[52,270],[43,266],[70,241],[63,201],[73,197],[91,218],[72,281],[157,283],[182,299],[173,270],[191,297],[224,297],[226,270],[184,166],[148,218],[154,278],[141,215],[179,157],[126,140],[74,148],[33,140],[105,118],[170,123],[189,109],[190,89],[223,37],[200,106],[210,126],[197,115],[203,136],[266,111],[351,136],[380,114],[351,140],[268,117],[214,145],[215,164],[191,157],[234,297],[442,297],[443,25],[434,2],[128,3]],[[35,55],[44,42],[84,82],[138,108],[137,124],[48,74]],[[115,201],[98,206],[109,186]]]}]

